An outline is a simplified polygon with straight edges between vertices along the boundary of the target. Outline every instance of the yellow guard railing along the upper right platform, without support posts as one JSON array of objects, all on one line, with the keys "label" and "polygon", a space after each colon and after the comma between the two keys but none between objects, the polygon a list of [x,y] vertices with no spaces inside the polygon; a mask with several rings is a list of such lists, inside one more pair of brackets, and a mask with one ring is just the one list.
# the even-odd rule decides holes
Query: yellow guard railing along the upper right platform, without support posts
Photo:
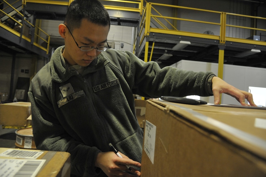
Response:
[{"label": "yellow guard railing along the upper right platform, without support posts", "polygon": [[[174,12],[178,10],[197,11],[198,13],[203,12],[203,13],[208,13],[209,15],[216,16],[217,19],[212,18],[213,21],[205,21],[205,20],[199,20],[199,19],[188,19],[188,18],[185,19],[185,18],[178,18],[178,17],[173,17],[173,16],[166,16],[166,15],[162,15],[163,12],[160,13],[158,10],[156,10],[156,7],[160,9],[164,9],[164,12]],[[226,20],[228,16],[235,16],[235,17],[241,16],[241,17],[250,18],[250,19],[259,19],[259,20],[263,20],[264,23],[266,23],[266,18],[262,18],[262,17],[247,16],[247,15],[240,15],[240,14],[235,14],[235,13],[225,13],[225,12],[219,12],[219,11],[213,11],[213,10],[203,10],[203,9],[190,8],[190,7],[182,7],[182,6],[147,2],[146,7],[143,8],[143,16],[139,24],[140,33],[138,34],[138,37],[140,37],[140,43],[136,44],[137,40],[135,40],[134,46],[136,45],[140,46],[143,43],[144,38],[149,37],[150,33],[173,34],[173,35],[213,39],[213,40],[219,41],[221,44],[224,44],[226,41],[231,41],[231,42],[266,46],[265,41],[241,39],[239,37],[230,37],[228,34],[226,34],[226,30],[228,28],[242,28],[242,29],[248,29],[248,30],[266,31],[266,29],[247,27],[244,25],[241,26],[241,25],[228,24]],[[173,26],[173,24],[176,24],[176,21],[189,22],[189,23],[194,23],[194,24],[201,23],[205,25],[216,26],[214,28],[218,29],[217,31],[219,31],[219,35],[203,34],[203,33],[195,32],[197,30],[194,30],[194,31],[178,30],[178,26]]]}]

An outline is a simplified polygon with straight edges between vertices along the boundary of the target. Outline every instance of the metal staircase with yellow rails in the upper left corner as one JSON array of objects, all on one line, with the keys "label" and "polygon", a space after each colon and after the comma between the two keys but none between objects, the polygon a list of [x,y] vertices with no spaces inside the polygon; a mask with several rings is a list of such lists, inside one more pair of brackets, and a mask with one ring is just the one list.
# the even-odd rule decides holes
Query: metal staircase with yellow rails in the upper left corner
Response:
[{"label": "metal staircase with yellow rails in the upper left corner", "polygon": [[36,25],[33,14],[25,10],[22,2],[2,0],[0,7],[1,51],[49,57],[50,36]]}]

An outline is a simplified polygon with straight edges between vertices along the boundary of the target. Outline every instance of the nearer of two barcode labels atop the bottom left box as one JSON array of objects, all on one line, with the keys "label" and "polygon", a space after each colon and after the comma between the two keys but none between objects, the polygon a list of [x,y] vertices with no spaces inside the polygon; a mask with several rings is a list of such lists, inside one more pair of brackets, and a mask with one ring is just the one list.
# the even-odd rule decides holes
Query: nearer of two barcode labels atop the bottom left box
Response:
[{"label": "nearer of two barcode labels atop the bottom left box", "polygon": [[43,166],[45,160],[0,159],[3,177],[34,177]]}]

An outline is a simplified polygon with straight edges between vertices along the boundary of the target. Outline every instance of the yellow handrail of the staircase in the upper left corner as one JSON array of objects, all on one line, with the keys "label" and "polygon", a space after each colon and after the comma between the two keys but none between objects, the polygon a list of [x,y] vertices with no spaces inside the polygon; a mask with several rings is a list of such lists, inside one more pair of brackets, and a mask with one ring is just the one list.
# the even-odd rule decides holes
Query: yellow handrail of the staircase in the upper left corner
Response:
[{"label": "yellow handrail of the staircase in the upper left corner", "polygon": [[[13,7],[14,3],[13,4],[9,4],[7,2],[7,0],[3,0],[2,3],[7,4],[7,7],[4,8],[3,10],[0,9],[0,12],[1,12],[2,16],[7,16],[8,19],[4,20],[3,22],[1,21],[0,22],[0,27],[6,29],[7,31],[11,32],[12,34],[14,34],[14,35],[16,35],[18,37],[22,37],[22,39],[27,40],[30,43],[32,42],[31,41],[31,35],[29,34],[30,27],[33,27],[33,28],[35,27],[35,28],[39,29],[38,33],[34,32],[33,45],[39,47],[40,49],[43,49],[44,51],[46,51],[46,54],[48,54],[48,52],[49,52],[49,41],[50,41],[49,34],[44,32],[38,26],[34,26],[28,20],[24,19],[24,15],[22,13],[20,13],[15,7]],[[24,20],[24,24],[23,24],[22,21],[15,19],[15,15],[10,16],[9,14],[7,14],[4,11],[8,7],[11,7],[14,11],[16,11],[16,15],[20,16],[21,19]],[[14,25],[10,26],[8,24],[8,21],[12,21],[12,23],[14,23]],[[28,29],[28,31],[27,31],[27,29]],[[41,35],[45,36],[45,37],[41,37]],[[44,39],[44,38],[46,38],[46,39]],[[46,43],[46,45],[43,45],[42,44],[43,42]],[[46,47],[43,47],[43,46],[46,46]]]}]

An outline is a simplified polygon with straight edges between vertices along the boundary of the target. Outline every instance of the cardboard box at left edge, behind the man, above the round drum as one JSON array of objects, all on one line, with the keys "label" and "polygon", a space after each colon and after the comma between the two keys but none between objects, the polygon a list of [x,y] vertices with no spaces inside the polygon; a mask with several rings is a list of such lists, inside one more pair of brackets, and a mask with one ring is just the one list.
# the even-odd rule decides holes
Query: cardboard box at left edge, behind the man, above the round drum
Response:
[{"label": "cardboard box at left edge, behind the man, above the round drum", "polygon": [[0,104],[0,125],[29,126],[27,125],[27,118],[30,115],[30,102]]}]

